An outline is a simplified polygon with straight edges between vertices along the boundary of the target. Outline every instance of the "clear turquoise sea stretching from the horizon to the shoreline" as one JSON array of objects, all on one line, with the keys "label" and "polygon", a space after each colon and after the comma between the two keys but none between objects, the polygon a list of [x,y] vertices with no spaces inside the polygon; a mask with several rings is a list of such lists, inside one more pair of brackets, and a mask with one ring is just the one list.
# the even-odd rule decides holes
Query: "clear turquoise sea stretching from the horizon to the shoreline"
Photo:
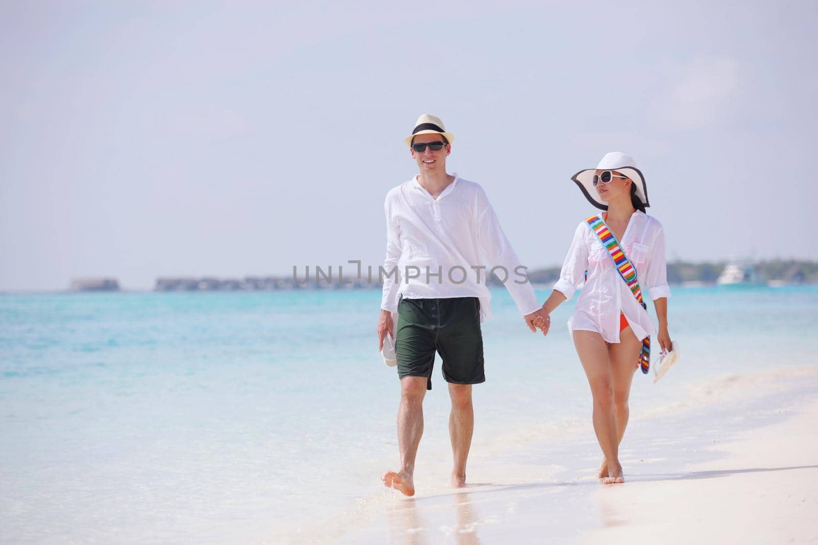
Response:
[{"label": "clear turquoise sea stretching from the horizon to the shoreline", "polygon": [[[573,303],[542,337],[492,293],[473,451],[587,427]],[[377,290],[0,295],[0,543],[279,543],[361,511],[398,462],[379,305]],[[680,363],[635,377],[631,413],[818,363],[818,287],[675,287],[669,309]],[[450,457],[439,368],[419,467]]]}]

